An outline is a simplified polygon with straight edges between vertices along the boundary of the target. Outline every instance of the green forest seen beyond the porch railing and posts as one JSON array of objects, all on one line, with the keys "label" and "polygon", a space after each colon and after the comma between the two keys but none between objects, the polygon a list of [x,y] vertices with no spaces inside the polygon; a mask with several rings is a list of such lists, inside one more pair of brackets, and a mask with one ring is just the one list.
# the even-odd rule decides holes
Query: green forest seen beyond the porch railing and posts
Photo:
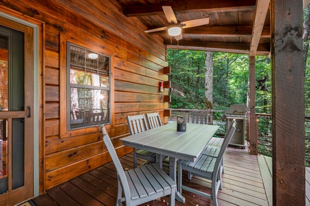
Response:
[{"label": "green forest seen beyond the porch railing and posts", "polygon": [[[304,11],[304,60],[305,60],[305,141],[306,165],[310,166],[310,5]],[[245,54],[212,53],[213,81],[212,109],[225,111],[231,104],[247,105],[247,87],[249,78],[249,56]],[[207,61],[206,61],[207,57]],[[171,73],[169,80],[170,108],[207,109],[205,105],[206,69],[208,52],[167,49],[167,61]],[[208,78],[207,78],[208,79]],[[209,78],[210,79],[210,78]],[[260,80],[265,80],[258,86]],[[271,59],[269,56],[256,56],[256,113],[272,113]],[[293,110],[292,110],[293,112]],[[221,113],[223,114],[223,113]],[[300,117],[300,118],[305,118]],[[308,118],[309,117],[309,118]],[[258,128],[258,152],[271,156],[272,122],[265,119],[263,131]],[[259,127],[259,125],[258,125]],[[260,137],[265,134],[264,137]],[[267,134],[267,135],[266,135]]]}]

